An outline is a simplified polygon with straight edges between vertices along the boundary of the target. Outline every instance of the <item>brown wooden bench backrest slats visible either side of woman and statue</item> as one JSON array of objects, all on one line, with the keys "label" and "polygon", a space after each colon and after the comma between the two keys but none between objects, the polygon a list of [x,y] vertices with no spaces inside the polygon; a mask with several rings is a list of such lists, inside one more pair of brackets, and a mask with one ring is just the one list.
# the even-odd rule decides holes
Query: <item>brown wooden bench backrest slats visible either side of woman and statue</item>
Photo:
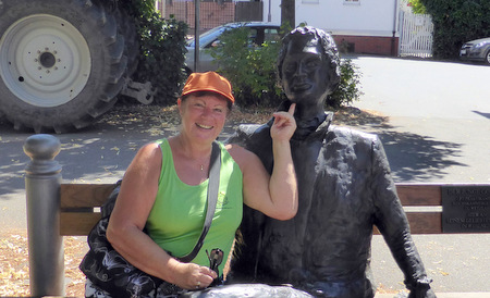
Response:
[{"label": "brown wooden bench backrest slats visible either side of woman and statue", "polygon": [[[93,226],[100,219],[100,207],[107,200],[115,184],[62,184],[61,185],[61,214],[60,234],[62,236],[88,235]],[[490,202],[490,184],[396,184],[396,191],[407,214],[412,234],[443,234],[443,203],[444,191],[453,189],[456,196],[457,189],[478,189],[481,200],[460,200],[460,207],[474,208],[467,212],[478,214],[481,207]],[[456,189],[456,190],[454,190]],[[451,195],[451,194],[450,194]],[[454,194],[453,194],[454,195]],[[469,195],[460,194],[468,199]],[[477,194],[478,195],[478,194]],[[478,202],[481,206],[478,206]],[[487,211],[488,213],[488,211]],[[478,216],[473,222],[478,222]],[[456,220],[460,221],[461,220]],[[490,223],[485,223],[481,232],[488,232]],[[471,222],[471,221],[470,221]],[[464,224],[464,223],[462,223]],[[450,232],[454,233],[454,232]],[[462,228],[456,233],[475,233],[475,228]],[[476,231],[476,233],[479,233]],[[375,228],[375,234],[379,232]]]}]

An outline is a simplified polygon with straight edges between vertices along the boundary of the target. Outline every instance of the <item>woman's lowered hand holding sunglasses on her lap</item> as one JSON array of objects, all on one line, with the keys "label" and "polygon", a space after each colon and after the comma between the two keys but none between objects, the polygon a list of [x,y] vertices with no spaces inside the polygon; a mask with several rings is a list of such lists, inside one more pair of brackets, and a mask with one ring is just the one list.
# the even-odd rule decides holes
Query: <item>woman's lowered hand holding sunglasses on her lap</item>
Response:
[{"label": "woman's lowered hand holding sunglasses on her lap", "polygon": [[176,286],[184,289],[199,289],[208,287],[218,274],[207,268],[194,263],[181,263],[174,268]]}]

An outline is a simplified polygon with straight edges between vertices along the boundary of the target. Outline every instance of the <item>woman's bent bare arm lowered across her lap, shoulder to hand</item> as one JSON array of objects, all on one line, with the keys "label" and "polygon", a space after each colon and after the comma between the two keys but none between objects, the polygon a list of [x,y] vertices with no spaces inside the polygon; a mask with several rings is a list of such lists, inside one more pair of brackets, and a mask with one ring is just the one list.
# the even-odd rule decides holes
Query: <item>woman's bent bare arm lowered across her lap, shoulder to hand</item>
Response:
[{"label": "woman's bent bare arm lowered across her lap, shoulder to hand", "polygon": [[130,164],[111,214],[108,240],[134,266],[182,288],[207,287],[216,273],[205,266],[181,263],[143,232],[158,191],[161,150],[143,147]]}]

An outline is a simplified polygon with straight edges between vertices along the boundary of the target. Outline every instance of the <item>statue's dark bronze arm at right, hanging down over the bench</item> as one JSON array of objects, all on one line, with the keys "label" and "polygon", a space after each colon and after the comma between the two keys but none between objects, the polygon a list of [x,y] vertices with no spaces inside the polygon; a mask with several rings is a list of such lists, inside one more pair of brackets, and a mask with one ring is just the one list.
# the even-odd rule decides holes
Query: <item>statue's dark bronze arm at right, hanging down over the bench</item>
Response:
[{"label": "statue's dark bronze arm at right, hanging down over the bench", "polygon": [[372,141],[372,184],[376,209],[375,224],[387,241],[396,263],[405,275],[409,297],[436,297],[430,289],[420,256],[411,235],[408,221],[391,176],[381,141]]}]

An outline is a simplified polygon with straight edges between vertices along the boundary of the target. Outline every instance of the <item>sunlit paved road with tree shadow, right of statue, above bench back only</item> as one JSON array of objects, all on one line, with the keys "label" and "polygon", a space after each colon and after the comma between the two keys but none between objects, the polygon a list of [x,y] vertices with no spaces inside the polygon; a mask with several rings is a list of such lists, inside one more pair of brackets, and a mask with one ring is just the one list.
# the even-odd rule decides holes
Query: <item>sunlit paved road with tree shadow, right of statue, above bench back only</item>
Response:
[{"label": "sunlit paved road with tree shadow, right of statue, above bench back only", "polygon": [[490,183],[490,67],[360,57],[355,107],[390,116],[378,129],[397,181]]}]

